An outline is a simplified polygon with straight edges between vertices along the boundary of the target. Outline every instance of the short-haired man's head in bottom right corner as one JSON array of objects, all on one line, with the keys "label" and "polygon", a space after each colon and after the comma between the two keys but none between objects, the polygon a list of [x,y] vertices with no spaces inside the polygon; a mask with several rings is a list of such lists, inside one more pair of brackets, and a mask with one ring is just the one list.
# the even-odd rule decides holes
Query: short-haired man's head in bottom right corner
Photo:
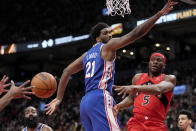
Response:
[{"label": "short-haired man's head in bottom right corner", "polygon": [[187,129],[190,127],[192,123],[193,117],[191,112],[187,110],[182,110],[178,114],[178,127],[182,130]]}]

